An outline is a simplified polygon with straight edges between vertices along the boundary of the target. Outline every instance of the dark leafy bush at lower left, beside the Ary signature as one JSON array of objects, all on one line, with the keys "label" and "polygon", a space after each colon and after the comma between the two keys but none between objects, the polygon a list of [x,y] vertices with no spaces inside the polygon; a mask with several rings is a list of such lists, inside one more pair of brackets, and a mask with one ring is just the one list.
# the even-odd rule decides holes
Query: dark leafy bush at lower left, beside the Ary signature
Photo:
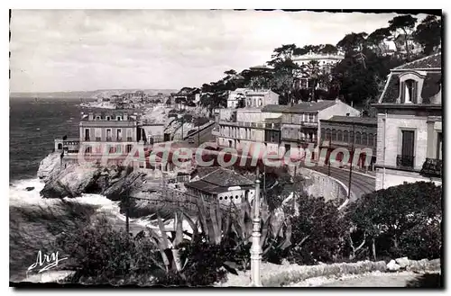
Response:
[{"label": "dark leafy bush at lower left, beside the Ary signature", "polygon": [[151,284],[158,271],[157,248],[151,240],[143,233],[133,239],[124,230],[116,231],[106,218],[63,234],[57,244],[75,270],[71,283]]}]

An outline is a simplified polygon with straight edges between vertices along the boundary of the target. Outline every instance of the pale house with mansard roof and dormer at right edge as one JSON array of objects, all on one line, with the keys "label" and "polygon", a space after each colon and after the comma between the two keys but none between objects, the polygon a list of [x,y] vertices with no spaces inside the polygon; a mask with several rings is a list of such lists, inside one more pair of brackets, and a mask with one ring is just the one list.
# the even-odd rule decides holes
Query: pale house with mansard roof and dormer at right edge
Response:
[{"label": "pale house with mansard roof and dormer at right edge", "polygon": [[441,53],[391,69],[377,108],[376,190],[442,183]]}]

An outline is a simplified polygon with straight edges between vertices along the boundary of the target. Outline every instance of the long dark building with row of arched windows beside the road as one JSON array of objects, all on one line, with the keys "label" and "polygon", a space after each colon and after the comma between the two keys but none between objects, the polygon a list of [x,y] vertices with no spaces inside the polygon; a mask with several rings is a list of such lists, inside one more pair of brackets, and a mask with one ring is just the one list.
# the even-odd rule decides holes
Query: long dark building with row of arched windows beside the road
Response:
[{"label": "long dark building with row of arched windows beside the road", "polygon": [[373,164],[376,161],[376,118],[332,116],[320,122],[320,148],[327,148],[326,164],[329,161],[343,161],[343,153],[332,153],[332,151],[336,148],[345,148],[350,151],[349,160],[347,164],[344,164],[345,166],[351,164],[355,151],[361,151],[354,165],[373,170]]}]

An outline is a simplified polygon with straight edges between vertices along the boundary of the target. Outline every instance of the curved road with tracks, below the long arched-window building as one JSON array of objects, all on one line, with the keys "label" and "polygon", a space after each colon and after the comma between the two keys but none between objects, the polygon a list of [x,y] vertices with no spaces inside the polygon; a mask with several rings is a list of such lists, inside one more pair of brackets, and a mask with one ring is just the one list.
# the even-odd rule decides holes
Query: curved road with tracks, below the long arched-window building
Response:
[{"label": "curved road with tracks, below the long arched-window building", "polygon": [[[313,166],[308,167],[319,173],[327,175],[327,166]],[[336,180],[343,182],[346,186],[349,185],[349,170],[344,170],[336,167],[330,167],[330,176],[336,178]],[[376,179],[366,175],[354,174],[351,177],[351,192],[354,193],[354,197],[351,196],[350,202],[354,202],[354,199],[360,198],[366,193],[373,193],[376,187]],[[351,194],[353,195],[353,194]]]}]

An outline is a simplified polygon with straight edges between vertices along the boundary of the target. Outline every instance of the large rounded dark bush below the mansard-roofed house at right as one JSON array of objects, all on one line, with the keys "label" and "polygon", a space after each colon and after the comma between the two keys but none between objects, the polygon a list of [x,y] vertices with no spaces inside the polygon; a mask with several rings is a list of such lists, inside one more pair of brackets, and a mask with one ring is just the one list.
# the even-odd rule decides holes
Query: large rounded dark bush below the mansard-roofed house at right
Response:
[{"label": "large rounded dark bush below the mansard-roofed house at right", "polygon": [[442,188],[433,183],[401,184],[365,194],[348,209],[373,258],[440,254]]}]

